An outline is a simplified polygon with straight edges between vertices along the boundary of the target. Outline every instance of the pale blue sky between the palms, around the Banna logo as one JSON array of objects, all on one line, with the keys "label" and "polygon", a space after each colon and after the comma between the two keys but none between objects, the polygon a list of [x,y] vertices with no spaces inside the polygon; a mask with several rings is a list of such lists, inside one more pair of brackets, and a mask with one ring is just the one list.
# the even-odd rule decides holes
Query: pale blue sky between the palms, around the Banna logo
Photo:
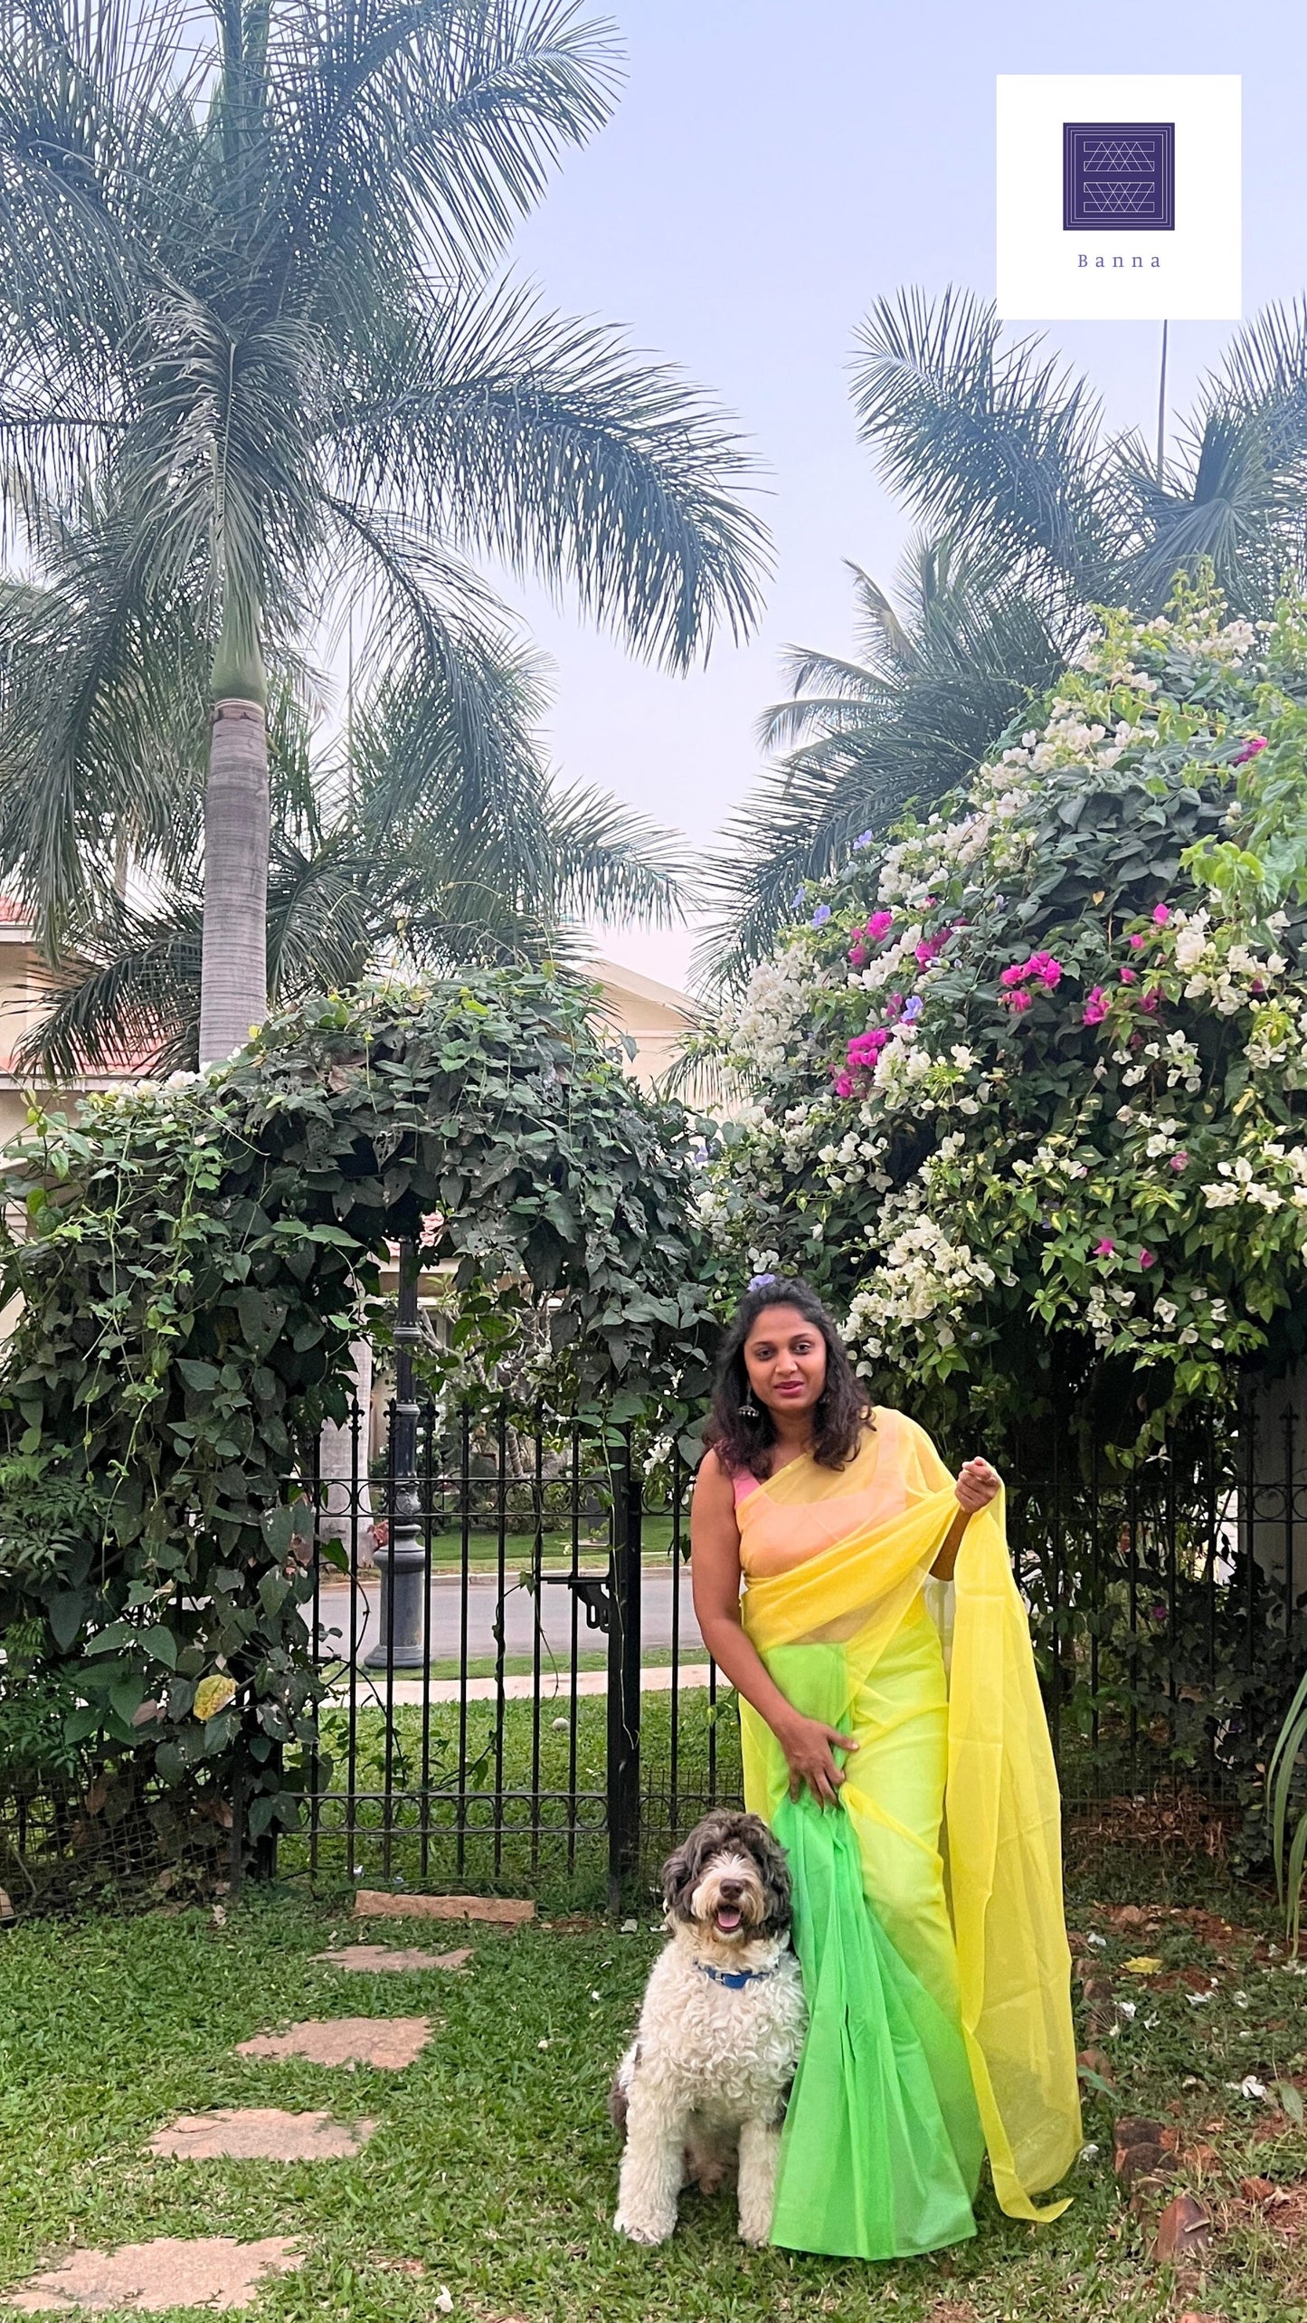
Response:
[{"label": "pale blue sky between the palms, around the Banna logo", "polygon": [[[720,641],[687,678],[641,667],[529,585],[506,595],[555,664],[562,778],[673,825],[699,857],[761,774],[754,729],[785,690],[785,646],[847,653],[845,560],[889,583],[912,530],[857,444],[847,367],[861,316],[903,283],[994,295],[994,77],[1240,72],[1251,316],[1307,288],[1307,16],[1288,0],[594,0],[585,14],[615,19],[627,86],[518,230],[513,267],[736,416],[761,462],[775,576],[757,634]],[[1172,325],[1168,427],[1230,330]],[[1091,376],[1107,425],[1156,432],[1156,323],[1052,323],[1047,337]],[[601,952],[673,985],[692,941],[597,929]]]}]

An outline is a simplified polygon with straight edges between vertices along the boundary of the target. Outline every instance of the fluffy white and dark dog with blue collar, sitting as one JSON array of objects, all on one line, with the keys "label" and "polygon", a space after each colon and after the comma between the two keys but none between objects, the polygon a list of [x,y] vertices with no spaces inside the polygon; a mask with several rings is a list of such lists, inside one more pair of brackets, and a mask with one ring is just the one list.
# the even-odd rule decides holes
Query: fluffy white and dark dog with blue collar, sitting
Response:
[{"label": "fluffy white and dark dog with blue collar, sitting", "polygon": [[613,2225],[666,2242],[683,2184],[715,2193],[738,2163],[741,2239],[761,2244],[808,2026],[785,1849],[761,1817],[717,1810],[666,1858],[662,1893],[671,1944],[608,2098],[627,2139]]}]

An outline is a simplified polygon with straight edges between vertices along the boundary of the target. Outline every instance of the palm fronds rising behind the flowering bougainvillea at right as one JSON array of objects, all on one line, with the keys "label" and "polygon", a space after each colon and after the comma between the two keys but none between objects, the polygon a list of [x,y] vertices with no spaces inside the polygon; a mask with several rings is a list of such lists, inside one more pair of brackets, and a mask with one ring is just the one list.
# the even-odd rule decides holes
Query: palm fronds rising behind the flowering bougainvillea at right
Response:
[{"label": "palm fronds rising behind the flowering bougainvillea at right", "polygon": [[945,290],[880,300],[859,330],[854,409],[924,532],[905,613],[854,567],[861,662],[789,655],[761,722],[782,753],[708,866],[722,915],[699,964],[738,983],[808,878],[864,829],[929,806],[1075,655],[1096,604],[1147,616],[1212,560],[1233,613],[1307,581],[1307,302],[1268,307],[1200,388],[1170,460],[1110,437],[1098,397],[994,307]]}]

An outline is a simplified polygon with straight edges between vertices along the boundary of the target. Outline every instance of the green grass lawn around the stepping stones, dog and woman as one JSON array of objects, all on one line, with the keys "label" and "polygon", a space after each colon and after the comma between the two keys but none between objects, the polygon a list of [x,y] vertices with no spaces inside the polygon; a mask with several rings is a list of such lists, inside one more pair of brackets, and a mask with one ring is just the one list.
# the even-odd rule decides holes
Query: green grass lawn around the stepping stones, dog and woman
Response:
[{"label": "green grass lawn around the stepping stones, dog and woman", "polygon": [[[1017,2225],[984,2195],[975,2242],[875,2270],[745,2253],[727,2200],[685,2198],[676,2242],[655,2253],[611,2232],[618,2151],[604,2091],[657,1944],[648,1912],[636,1935],[606,1923],[488,1933],[467,1977],[376,1984],[309,1958],[346,1933],[344,1896],[246,1893],[225,1926],[204,1910],[23,1923],[0,1940],[0,2284],[70,2242],[290,2232],[306,2267],[267,2286],[260,2318],[427,2323],[448,2288],[453,2314],[476,2323],[1158,2323],[1182,2309],[1288,2323],[1305,2253],[1240,2200],[1240,2177],[1300,2179],[1307,2137],[1228,2084],[1302,2065],[1302,1984],[1256,1961],[1251,1937],[1212,1949],[1182,1921],[1163,1921],[1149,1951],[1168,1968],[1212,1968],[1219,1998],[1191,2007],[1182,1984],[1158,1993],[1131,1975],[1140,1935],[1096,1916],[1091,1898],[1177,1893],[1196,1891],[1168,1891],[1156,1865],[1121,1851],[1070,1882],[1073,1923],[1110,1937],[1103,1975],[1138,2014],[1117,2014],[1119,2035],[1103,2040],[1117,2095],[1089,2100],[1100,2151],[1073,2172],[1066,2218]],[[1254,1916],[1209,1877],[1198,1893]],[[360,2009],[427,2012],[436,2037],[404,2074],[234,2056],[251,2033]],[[381,2128],[360,2158],[313,2167],[146,2156],[174,2112],[232,2102],[376,2114]],[[1182,2158],[1177,2186],[1200,2191],[1223,2223],[1203,2279],[1179,2290],[1147,2258],[1158,2198],[1131,2211],[1112,2179],[1114,2112],[1161,2116],[1205,2149]],[[395,2272],[397,2260],[423,2272]]]}]

